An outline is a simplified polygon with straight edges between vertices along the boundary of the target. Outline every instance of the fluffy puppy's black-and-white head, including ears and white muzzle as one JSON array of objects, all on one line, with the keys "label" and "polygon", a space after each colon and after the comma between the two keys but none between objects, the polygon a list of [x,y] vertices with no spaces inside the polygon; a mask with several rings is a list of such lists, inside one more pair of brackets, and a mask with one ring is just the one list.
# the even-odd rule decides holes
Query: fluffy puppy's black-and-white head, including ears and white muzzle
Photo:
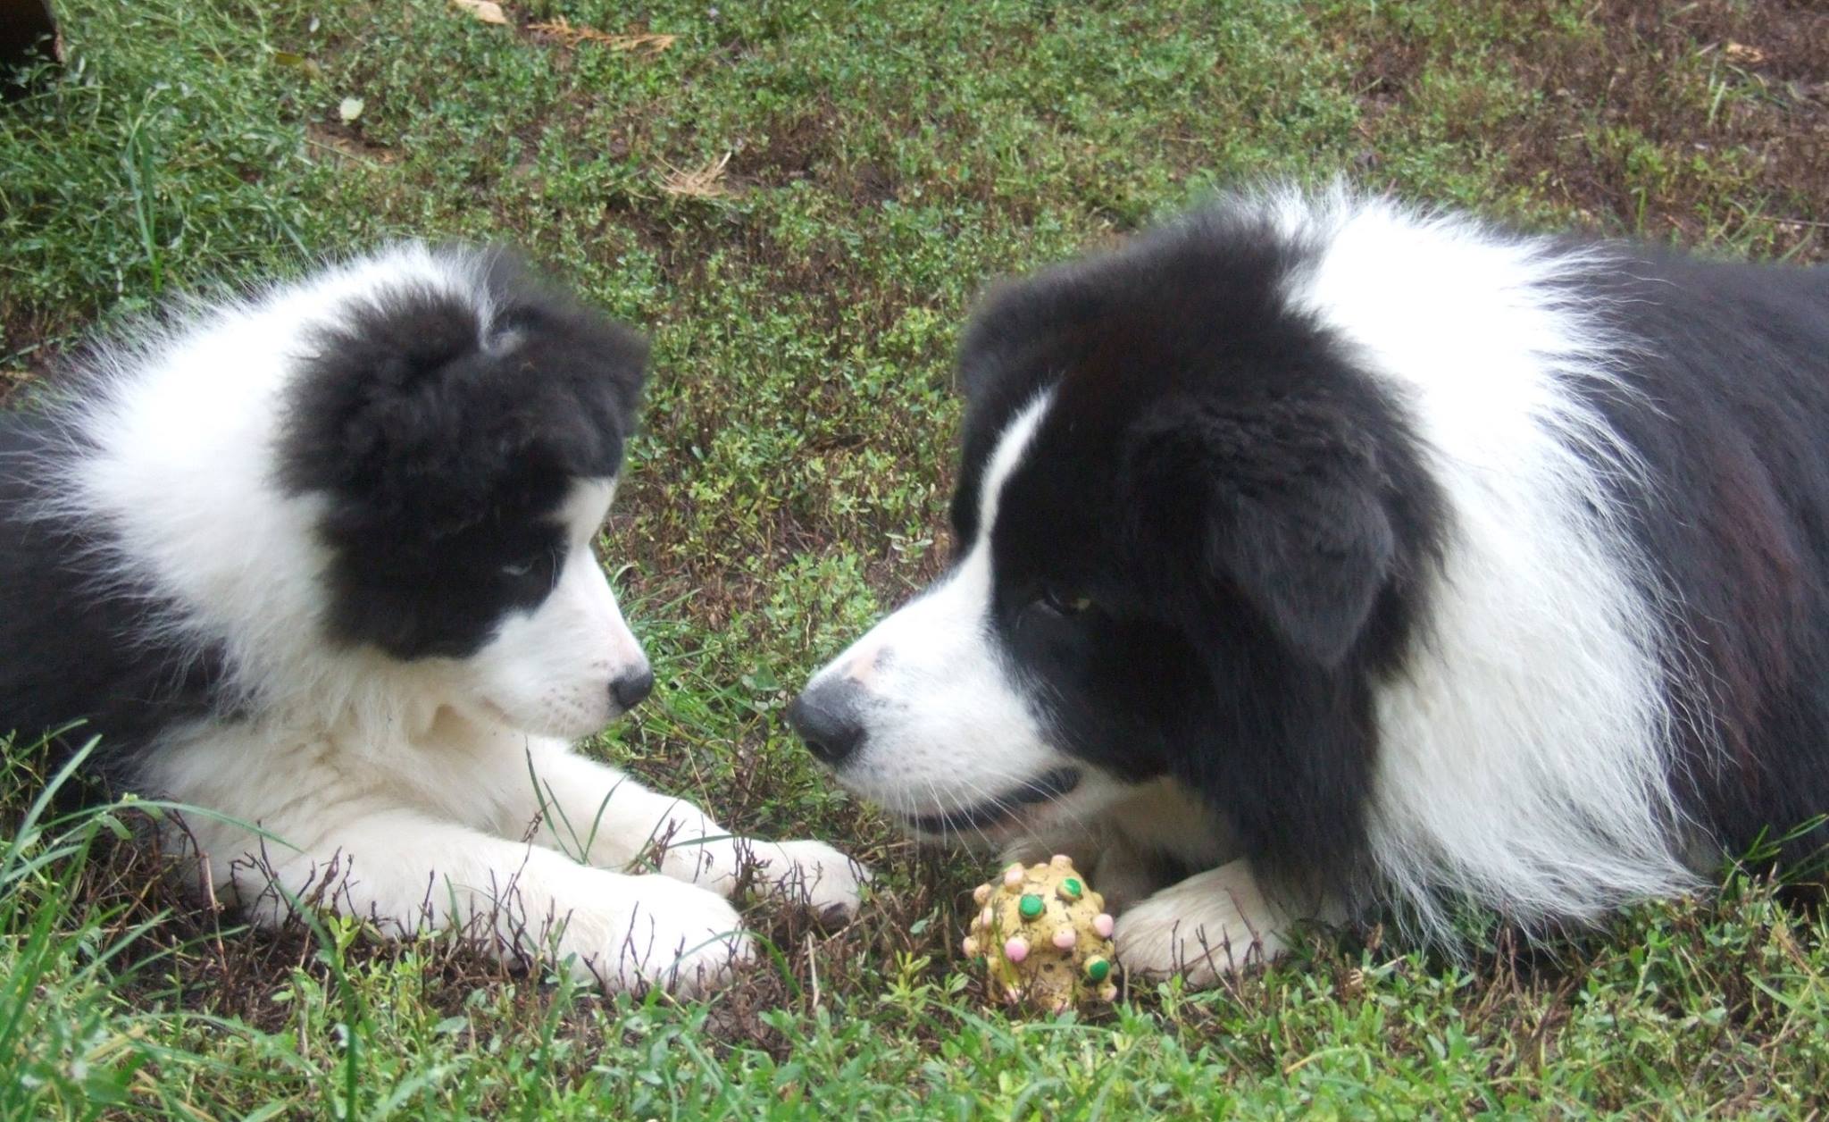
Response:
[{"label": "fluffy puppy's black-and-white head, including ears and white muzzle", "polygon": [[653,685],[593,551],[646,344],[499,254],[412,260],[338,304],[285,401],[320,626],[519,730],[594,732]]}]

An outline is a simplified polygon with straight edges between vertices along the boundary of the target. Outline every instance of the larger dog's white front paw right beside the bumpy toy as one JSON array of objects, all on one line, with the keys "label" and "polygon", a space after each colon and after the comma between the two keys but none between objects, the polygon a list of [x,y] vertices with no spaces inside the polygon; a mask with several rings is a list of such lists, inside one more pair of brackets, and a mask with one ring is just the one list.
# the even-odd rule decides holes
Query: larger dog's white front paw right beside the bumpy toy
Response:
[{"label": "larger dog's white front paw right beside the bumpy toy", "polygon": [[1280,955],[1286,924],[1246,862],[1235,860],[1149,897],[1118,917],[1118,963],[1130,977],[1180,974],[1205,987]]}]

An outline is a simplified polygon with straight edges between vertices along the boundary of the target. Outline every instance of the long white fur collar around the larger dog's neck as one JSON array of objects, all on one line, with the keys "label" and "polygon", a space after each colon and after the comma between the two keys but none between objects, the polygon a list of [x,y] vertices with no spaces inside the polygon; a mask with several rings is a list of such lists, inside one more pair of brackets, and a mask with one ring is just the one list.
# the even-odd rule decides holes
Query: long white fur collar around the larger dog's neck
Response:
[{"label": "long white fur collar around the larger dog's neck", "polygon": [[1575,395],[1630,390],[1555,287],[1582,258],[1344,192],[1273,205],[1324,247],[1291,304],[1388,381],[1452,512],[1427,633],[1377,694],[1379,869],[1430,924],[1441,890],[1531,922],[1690,886],[1666,624],[1604,478],[1639,467]]}]

